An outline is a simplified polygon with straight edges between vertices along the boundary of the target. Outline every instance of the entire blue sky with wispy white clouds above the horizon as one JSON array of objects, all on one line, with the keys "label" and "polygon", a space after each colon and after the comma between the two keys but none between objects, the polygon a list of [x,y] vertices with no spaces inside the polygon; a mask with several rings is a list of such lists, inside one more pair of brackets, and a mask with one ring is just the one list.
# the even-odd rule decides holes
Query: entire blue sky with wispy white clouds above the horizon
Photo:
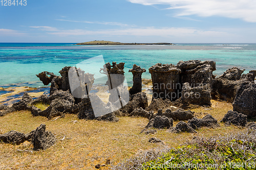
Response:
[{"label": "entire blue sky with wispy white clouds above the horizon", "polygon": [[255,0],[16,1],[0,1],[0,42],[256,43]]}]

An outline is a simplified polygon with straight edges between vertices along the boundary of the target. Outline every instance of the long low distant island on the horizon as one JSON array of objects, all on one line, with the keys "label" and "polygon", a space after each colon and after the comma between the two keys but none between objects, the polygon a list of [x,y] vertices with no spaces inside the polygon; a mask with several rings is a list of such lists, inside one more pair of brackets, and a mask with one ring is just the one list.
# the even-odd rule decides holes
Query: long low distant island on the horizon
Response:
[{"label": "long low distant island on the horizon", "polygon": [[89,42],[81,42],[76,45],[175,45],[167,42],[159,42],[159,43],[122,43],[122,42],[113,42],[113,41],[89,41]]}]

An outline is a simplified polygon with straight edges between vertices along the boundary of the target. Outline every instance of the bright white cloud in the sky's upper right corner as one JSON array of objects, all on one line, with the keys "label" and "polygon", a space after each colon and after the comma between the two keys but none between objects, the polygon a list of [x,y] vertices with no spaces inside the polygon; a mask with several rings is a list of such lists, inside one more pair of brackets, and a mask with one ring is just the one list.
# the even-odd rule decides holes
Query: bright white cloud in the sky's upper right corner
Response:
[{"label": "bright white cloud in the sky's upper right corner", "polygon": [[177,16],[224,16],[256,22],[255,0],[127,0],[142,5],[168,5],[179,9]]}]

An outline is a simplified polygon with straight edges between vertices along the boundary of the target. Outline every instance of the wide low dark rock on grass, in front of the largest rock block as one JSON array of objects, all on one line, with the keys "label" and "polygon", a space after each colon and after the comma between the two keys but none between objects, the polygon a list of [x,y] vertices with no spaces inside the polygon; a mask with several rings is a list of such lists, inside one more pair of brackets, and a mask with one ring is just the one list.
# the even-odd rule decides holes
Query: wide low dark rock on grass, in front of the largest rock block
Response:
[{"label": "wide low dark rock on grass, in front of the largest rock block", "polygon": [[212,117],[212,115],[210,114],[207,114],[203,118],[193,117],[192,119],[188,120],[187,124],[193,129],[199,129],[201,127],[208,127],[208,128],[220,127],[220,125],[218,124],[218,120]]}]

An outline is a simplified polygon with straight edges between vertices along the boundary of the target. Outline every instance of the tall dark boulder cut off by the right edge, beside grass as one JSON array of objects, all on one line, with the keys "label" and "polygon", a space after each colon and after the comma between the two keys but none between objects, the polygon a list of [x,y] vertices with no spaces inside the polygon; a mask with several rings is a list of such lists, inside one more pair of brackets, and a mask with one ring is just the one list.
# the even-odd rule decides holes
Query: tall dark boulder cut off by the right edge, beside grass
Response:
[{"label": "tall dark boulder cut off by the right edge, beside grass", "polygon": [[233,111],[248,117],[256,116],[256,84],[249,81],[242,83],[232,105]]}]

